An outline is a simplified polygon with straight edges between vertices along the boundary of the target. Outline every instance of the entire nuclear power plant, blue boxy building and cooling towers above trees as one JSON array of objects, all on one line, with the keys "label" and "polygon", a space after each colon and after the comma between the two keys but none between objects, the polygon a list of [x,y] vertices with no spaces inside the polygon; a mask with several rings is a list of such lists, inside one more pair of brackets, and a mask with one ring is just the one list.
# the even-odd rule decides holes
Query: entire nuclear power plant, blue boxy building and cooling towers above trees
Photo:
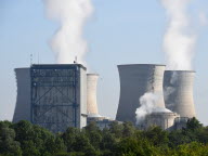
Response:
[{"label": "entire nuclear power plant, blue boxy building and cooling towers above trees", "polygon": [[[166,65],[118,65],[120,96],[116,121],[131,121],[141,129],[159,126],[179,129],[195,117],[194,72],[166,70]],[[13,121],[29,120],[53,132],[83,128],[95,121],[103,129],[115,121],[99,114],[98,74],[81,64],[38,64],[16,68],[17,98]],[[148,108],[146,94],[155,96]],[[144,118],[136,109],[145,108]]]}]

